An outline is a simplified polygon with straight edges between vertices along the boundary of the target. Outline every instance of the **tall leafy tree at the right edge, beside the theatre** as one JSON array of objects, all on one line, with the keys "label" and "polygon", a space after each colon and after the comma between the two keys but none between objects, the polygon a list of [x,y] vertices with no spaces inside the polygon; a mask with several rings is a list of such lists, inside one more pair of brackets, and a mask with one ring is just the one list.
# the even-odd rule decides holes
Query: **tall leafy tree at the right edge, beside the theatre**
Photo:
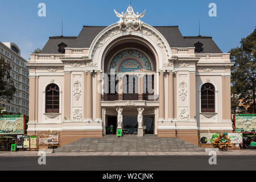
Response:
[{"label": "tall leafy tree at the right edge, beside the theatre", "polygon": [[232,110],[236,113],[238,100],[243,105],[249,105],[247,113],[256,113],[256,30],[243,38],[240,47],[230,50],[230,60],[234,63],[231,68]]}]

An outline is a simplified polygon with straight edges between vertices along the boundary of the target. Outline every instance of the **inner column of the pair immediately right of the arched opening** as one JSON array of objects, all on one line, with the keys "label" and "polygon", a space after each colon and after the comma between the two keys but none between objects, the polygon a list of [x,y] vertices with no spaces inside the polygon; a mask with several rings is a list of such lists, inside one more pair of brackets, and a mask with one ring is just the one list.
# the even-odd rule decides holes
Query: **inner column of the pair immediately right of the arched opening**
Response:
[{"label": "inner column of the pair immediately right of the arched opening", "polygon": [[164,72],[159,71],[159,118],[164,120]]}]

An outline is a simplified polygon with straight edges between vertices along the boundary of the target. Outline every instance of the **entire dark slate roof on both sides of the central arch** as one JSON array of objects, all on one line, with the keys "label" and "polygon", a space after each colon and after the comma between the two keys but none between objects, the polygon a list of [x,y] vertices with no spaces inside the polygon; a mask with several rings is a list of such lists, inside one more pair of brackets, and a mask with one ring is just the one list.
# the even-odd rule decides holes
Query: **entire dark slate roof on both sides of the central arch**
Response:
[{"label": "entire dark slate roof on both sides of the central arch", "polygon": [[[52,36],[42,49],[41,53],[59,53],[57,46],[61,42],[69,48],[89,48],[93,39],[106,28],[106,26],[83,26],[78,36]],[[185,36],[181,34],[178,26],[155,26],[167,40],[170,47],[194,47],[193,44],[201,42],[204,44],[204,51],[200,53],[221,53],[221,50],[213,42],[211,37]]]}]

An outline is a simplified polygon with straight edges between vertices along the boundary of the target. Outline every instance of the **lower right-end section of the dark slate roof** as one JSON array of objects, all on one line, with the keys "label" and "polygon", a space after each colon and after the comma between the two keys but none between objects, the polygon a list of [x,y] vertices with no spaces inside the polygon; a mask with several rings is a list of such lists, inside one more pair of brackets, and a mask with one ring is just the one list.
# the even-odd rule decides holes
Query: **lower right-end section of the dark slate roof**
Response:
[{"label": "lower right-end section of the dark slate roof", "polygon": [[184,36],[188,47],[195,47],[194,44],[200,42],[203,44],[203,51],[195,53],[222,53],[211,36]]}]

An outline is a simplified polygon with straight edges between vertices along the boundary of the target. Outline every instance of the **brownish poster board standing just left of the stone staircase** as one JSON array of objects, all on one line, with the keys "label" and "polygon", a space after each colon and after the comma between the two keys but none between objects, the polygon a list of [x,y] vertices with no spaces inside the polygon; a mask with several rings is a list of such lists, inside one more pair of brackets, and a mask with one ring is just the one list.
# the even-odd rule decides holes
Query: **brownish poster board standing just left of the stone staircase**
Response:
[{"label": "brownish poster board standing just left of the stone staircase", "polygon": [[46,131],[38,134],[38,146],[60,147],[60,133],[56,131]]}]

